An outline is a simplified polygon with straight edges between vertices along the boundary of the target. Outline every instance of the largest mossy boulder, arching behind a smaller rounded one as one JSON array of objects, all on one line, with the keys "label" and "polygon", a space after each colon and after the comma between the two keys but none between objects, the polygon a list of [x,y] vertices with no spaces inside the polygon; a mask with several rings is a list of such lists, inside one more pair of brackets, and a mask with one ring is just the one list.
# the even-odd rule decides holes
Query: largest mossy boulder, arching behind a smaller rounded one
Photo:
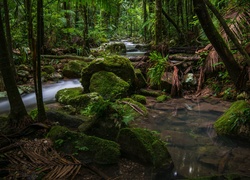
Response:
[{"label": "largest mossy boulder, arching behind a smaller rounded one", "polygon": [[90,92],[90,79],[93,74],[99,71],[107,71],[116,74],[129,84],[130,90],[134,89],[134,67],[130,63],[129,59],[115,55],[98,58],[82,69],[81,83],[84,87],[84,92]]}]

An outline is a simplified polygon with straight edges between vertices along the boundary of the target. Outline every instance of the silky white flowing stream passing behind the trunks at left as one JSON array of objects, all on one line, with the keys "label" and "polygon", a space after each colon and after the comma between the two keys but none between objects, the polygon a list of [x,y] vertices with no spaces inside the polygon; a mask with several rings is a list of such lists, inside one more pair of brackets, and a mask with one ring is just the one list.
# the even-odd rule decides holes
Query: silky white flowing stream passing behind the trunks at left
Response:
[{"label": "silky white flowing stream passing behind the trunks at left", "polygon": [[[43,101],[45,104],[55,102],[57,91],[64,88],[81,87],[79,80],[62,80],[54,84],[43,85]],[[25,106],[29,109],[36,106],[35,93],[30,93],[22,96]],[[9,101],[7,98],[0,100],[0,114],[8,113],[10,110]]]}]

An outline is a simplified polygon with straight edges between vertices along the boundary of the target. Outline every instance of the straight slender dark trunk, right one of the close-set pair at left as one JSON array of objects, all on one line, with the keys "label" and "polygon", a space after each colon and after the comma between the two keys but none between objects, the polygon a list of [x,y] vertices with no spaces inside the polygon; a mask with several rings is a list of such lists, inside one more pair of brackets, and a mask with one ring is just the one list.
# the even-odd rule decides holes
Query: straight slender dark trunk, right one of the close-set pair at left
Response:
[{"label": "straight slender dark trunk, right one of the close-set pair at left", "polygon": [[43,0],[37,0],[37,109],[38,109],[38,121],[44,122],[47,117],[43,104],[43,92],[41,81],[41,49],[42,49],[42,24],[43,24]]}]

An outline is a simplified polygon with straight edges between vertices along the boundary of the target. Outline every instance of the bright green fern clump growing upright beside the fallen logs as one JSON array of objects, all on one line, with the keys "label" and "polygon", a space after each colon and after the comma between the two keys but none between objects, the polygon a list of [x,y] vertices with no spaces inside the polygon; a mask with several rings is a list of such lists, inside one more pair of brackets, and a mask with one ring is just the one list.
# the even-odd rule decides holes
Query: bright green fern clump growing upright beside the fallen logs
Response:
[{"label": "bright green fern clump growing upright beside the fallen logs", "polygon": [[147,75],[150,79],[150,85],[160,85],[161,77],[168,67],[168,56],[162,57],[159,52],[154,51],[150,53],[149,58],[150,62],[153,64],[147,72]]}]

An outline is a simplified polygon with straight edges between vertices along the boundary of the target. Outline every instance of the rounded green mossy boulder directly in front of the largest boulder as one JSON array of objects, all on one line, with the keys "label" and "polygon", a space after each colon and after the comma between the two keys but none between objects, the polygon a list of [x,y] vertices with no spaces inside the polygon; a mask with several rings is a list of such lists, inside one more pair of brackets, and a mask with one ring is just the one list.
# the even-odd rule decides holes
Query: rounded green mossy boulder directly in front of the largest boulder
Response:
[{"label": "rounded green mossy boulder directly in front of the largest boulder", "polygon": [[90,79],[90,92],[99,93],[104,99],[118,99],[128,94],[129,84],[112,72],[99,71]]}]

